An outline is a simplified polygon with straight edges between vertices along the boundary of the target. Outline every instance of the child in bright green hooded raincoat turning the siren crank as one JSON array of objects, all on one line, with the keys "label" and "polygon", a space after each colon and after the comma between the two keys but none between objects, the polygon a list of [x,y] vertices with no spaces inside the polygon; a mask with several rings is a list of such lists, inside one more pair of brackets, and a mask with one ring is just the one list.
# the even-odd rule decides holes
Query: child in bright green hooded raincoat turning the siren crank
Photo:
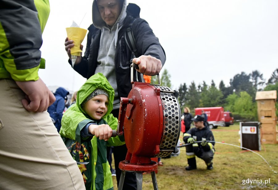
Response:
[{"label": "child in bright green hooded raincoat turning the siren crank", "polygon": [[62,117],[60,135],[78,164],[86,189],[113,189],[106,147],[124,144],[124,138],[111,137],[118,124],[110,114],[113,100],[114,89],[97,73],[78,90],[76,103]]}]

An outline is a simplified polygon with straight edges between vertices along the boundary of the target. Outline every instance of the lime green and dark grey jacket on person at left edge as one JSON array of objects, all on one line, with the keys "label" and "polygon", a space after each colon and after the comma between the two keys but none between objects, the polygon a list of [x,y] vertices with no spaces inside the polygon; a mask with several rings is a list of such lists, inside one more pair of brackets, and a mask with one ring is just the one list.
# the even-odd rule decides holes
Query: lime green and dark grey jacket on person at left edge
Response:
[{"label": "lime green and dark grey jacket on person at left edge", "polygon": [[49,1],[0,0],[0,7],[0,79],[38,80],[45,66],[40,47]]}]

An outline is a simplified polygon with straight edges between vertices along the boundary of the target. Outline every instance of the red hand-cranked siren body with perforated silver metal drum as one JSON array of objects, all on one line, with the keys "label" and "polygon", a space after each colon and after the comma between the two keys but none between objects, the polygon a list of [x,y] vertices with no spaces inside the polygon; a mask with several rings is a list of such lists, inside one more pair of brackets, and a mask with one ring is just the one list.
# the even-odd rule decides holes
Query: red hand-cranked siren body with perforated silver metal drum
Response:
[{"label": "red hand-cranked siren body with perforated silver metal drum", "polygon": [[132,164],[177,153],[180,134],[178,92],[165,86],[135,82],[128,98],[121,98],[117,134],[124,133]]}]

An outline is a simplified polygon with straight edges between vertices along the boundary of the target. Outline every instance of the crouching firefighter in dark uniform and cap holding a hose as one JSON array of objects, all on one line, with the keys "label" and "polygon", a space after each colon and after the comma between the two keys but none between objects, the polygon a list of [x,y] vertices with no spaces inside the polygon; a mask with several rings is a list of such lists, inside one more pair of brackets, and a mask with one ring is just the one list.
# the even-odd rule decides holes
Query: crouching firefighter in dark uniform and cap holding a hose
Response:
[{"label": "crouching firefighter in dark uniform and cap holding a hose", "polygon": [[[191,128],[183,135],[183,141],[185,143],[191,143],[191,145],[186,146],[186,157],[188,166],[186,170],[197,169],[195,155],[205,161],[208,170],[213,169],[213,155],[214,142],[206,142],[207,140],[214,141],[214,136],[212,131],[209,129],[208,125],[204,123],[204,117],[201,115],[196,115],[192,118],[194,121],[194,128]],[[201,143],[194,143],[195,141],[203,141]]]}]

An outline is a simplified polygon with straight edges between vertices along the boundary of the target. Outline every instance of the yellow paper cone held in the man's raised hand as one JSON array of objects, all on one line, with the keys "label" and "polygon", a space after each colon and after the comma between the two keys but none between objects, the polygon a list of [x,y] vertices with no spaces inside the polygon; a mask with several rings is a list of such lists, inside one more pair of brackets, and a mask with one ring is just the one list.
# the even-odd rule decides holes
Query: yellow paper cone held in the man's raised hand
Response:
[{"label": "yellow paper cone held in the man's raised hand", "polygon": [[66,28],[66,31],[69,40],[74,41],[74,46],[70,48],[70,54],[79,56],[80,52],[82,52],[82,50],[80,50],[80,44],[84,40],[87,30],[78,27],[69,27]]}]

